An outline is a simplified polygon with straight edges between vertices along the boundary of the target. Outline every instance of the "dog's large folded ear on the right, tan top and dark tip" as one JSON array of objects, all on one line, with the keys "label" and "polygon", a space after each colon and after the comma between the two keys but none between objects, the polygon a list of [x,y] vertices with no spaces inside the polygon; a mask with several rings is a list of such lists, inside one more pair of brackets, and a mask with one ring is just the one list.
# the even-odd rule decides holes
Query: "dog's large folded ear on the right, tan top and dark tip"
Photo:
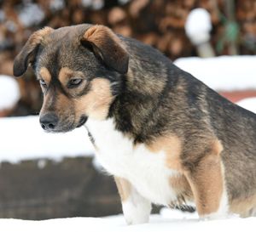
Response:
[{"label": "dog's large folded ear on the right, tan top and dark tip", "polygon": [[119,37],[104,25],[93,25],[81,38],[80,42],[90,46],[97,58],[119,73],[128,71],[129,55],[122,47]]}]

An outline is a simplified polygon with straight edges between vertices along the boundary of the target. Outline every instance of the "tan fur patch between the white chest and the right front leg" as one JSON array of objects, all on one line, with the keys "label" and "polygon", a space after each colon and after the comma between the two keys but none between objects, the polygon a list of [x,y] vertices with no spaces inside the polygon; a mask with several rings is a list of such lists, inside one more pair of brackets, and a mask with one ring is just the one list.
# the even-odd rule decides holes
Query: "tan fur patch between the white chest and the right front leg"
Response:
[{"label": "tan fur patch between the white chest and the right front leg", "polygon": [[148,150],[153,152],[166,153],[166,166],[179,172],[183,172],[180,155],[182,151],[182,141],[176,135],[162,136],[148,144]]}]

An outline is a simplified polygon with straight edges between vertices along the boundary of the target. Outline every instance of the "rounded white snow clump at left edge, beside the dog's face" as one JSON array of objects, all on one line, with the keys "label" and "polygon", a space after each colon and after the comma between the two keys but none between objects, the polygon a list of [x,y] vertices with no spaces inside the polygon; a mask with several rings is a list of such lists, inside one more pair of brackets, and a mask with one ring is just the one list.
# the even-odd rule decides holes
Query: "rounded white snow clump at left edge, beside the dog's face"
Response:
[{"label": "rounded white snow clump at left edge, beside the dog's face", "polygon": [[13,108],[19,99],[18,82],[11,76],[0,75],[0,110]]}]

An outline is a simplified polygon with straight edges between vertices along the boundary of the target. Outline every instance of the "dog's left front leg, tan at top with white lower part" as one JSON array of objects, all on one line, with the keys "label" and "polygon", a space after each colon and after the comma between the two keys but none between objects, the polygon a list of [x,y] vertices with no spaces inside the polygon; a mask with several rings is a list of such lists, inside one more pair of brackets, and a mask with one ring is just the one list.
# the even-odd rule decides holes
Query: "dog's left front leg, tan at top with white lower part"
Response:
[{"label": "dog's left front leg, tan at top with white lower part", "polygon": [[151,202],[140,195],[125,178],[114,177],[122,201],[123,212],[127,224],[148,223]]}]

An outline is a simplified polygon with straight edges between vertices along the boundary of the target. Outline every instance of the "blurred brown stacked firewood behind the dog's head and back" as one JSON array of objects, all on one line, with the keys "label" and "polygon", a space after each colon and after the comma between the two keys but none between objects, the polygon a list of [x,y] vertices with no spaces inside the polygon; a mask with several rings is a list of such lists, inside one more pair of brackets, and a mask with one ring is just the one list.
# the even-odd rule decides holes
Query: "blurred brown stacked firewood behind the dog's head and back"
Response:
[{"label": "blurred brown stacked firewood behind the dog's head and back", "polygon": [[[234,3],[231,14],[228,2]],[[184,31],[186,18],[193,8],[206,8],[211,14],[211,43],[216,54],[229,54],[230,37],[238,54],[256,53],[255,0],[9,0],[0,1],[0,7],[2,74],[12,74],[15,54],[32,32],[44,25],[57,28],[80,23],[103,24],[160,49],[171,59],[196,55]],[[27,90],[27,82],[30,82],[29,88],[37,86],[31,84],[32,74],[27,76],[26,83],[20,80],[20,85],[26,86],[26,91],[21,91],[23,102],[38,110],[40,94],[38,89]]]}]

